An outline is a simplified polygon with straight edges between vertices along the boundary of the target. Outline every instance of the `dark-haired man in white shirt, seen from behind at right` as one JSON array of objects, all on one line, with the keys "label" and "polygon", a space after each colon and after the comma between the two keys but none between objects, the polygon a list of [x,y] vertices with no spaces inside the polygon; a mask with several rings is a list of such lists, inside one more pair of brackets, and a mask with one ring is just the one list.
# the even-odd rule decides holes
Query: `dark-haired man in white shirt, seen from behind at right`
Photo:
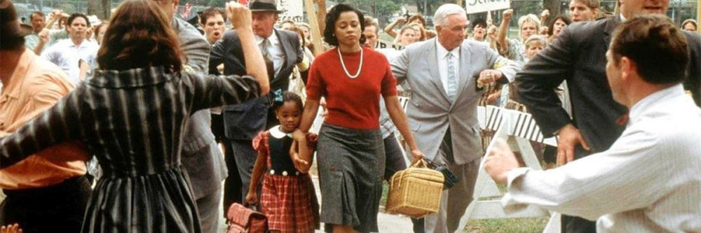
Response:
[{"label": "dark-haired man in white shirt, seen from behind at right", "polygon": [[630,110],[625,131],[547,171],[518,168],[502,141],[485,169],[508,184],[505,211],[533,204],[597,220],[597,232],[701,232],[701,110],[681,85],[686,38],[665,15],[641,15],[616,29],[606,58],[613,99]]}]

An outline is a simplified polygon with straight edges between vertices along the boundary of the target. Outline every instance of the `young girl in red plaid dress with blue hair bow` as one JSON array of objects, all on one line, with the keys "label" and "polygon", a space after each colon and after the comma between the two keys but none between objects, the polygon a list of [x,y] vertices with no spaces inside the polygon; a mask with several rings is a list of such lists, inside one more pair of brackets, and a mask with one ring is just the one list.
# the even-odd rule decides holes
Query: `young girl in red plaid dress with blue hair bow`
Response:
[{"label": "young girl in red plaid dress with blue hair bow", "polygon": [[319,227],[319,208],[311,177],[316,135],[299,128],[303,104],[299,95],[275,94],[273,108],[280,125],[253,139],[258,158],[253,167],[247,203],[257,203],[256,190],[263,176],[262,212],[271,232],[308,233]]}]

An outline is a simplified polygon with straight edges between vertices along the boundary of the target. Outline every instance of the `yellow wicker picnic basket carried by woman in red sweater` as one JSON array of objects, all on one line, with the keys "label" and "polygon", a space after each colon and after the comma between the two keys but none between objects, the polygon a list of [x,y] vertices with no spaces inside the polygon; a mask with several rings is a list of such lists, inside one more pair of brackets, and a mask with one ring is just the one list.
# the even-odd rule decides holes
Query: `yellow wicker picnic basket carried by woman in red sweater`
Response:
[{"label": "yellow wicker picnic basket carried by woman in red sweater", "polygon": [[426,162],[417,160],[392,176],[387,211],[412,218],[438,213],[443,179],[440,171],[428,169]]}]

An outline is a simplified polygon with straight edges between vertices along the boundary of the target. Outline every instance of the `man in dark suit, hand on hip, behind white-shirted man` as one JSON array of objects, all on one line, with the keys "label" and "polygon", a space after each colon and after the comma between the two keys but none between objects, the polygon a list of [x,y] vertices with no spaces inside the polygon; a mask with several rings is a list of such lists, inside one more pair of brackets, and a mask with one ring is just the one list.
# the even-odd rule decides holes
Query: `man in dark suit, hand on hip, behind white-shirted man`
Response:
[{"label": "man in dark suit, hand on hip, behind white-shirted man", "polygon": [[[622,1],[620,15],[570,24],[557,39],[530,60],[516,76],[517,93],[544,135],[557,135],[559,165],[608,150],[627,122],[627,108],[616,103],[606,80],[606,50],[622,20],[641,14],[666,13],[669,0]],[[690,66],[684,87],[696,104],[701,92],[701,38],[684,32]],[[667,59],[658,57],[657,59]],[[567,80],[573,117],[562,108],[554,87]],[[680,122],[683,123],[683,122]],[[563,216],[563,232],[596,232],[594,222]]]}]

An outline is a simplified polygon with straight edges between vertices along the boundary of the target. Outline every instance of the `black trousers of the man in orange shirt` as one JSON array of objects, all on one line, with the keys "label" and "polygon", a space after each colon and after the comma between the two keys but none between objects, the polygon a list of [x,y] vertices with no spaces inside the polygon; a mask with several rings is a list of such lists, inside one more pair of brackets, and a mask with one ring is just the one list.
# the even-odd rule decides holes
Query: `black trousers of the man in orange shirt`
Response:
[{"label": "black trousers of the man in orange shirt", "polygon": [[81,232],[93,190],[87,176],[78,176],[48,187],[3,192],[0,225],[18,223],[25,233]]}]

